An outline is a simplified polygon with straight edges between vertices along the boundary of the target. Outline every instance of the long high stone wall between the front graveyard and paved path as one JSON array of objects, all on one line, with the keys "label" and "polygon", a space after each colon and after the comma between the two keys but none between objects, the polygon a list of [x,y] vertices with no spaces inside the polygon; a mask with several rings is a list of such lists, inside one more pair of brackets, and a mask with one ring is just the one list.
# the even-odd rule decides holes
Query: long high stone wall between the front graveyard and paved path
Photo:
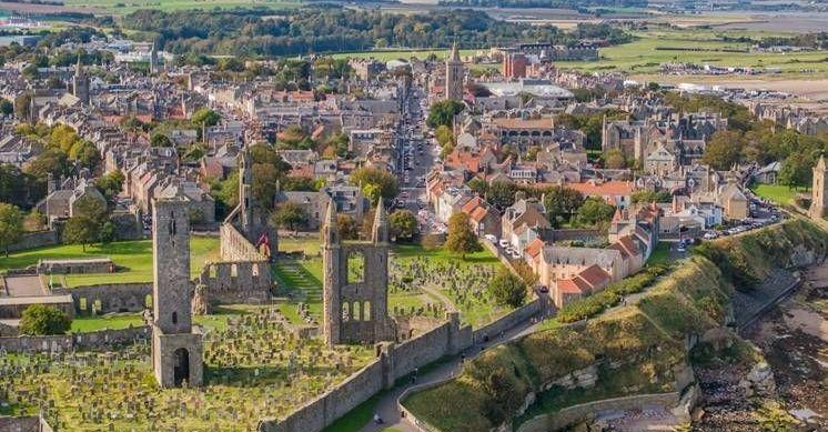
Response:
[{"label": "long high stone wall between the front graveyard and paved path", "polygon": [[472,344],[469,326],[460,326],[456,313],[430,332],[395,345],[381,345],[380,356],[335,389],[297,409],[282,420],[264,419],[258,430],[266,432],[321,431],[394,382],[445,355],[455,355]]}]

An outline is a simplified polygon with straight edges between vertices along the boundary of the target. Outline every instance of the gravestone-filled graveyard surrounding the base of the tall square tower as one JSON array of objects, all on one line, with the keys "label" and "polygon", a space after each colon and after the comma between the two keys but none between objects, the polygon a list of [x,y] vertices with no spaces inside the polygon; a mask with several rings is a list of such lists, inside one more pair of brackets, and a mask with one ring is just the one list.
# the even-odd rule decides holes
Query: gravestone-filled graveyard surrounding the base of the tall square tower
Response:
[{"label": "gravestone-filled graveyard surrounding the base of the tall square tower", "polygon": [[[162,390],[150,346],[0,353],[0,415],[37,415],[58,430],[251,430],[367,364],[364,345],[329,350],[294,332],[277,308],[216,315],[204,334],[201,388]],[[205,325],[206,326],[206,325]]]}]

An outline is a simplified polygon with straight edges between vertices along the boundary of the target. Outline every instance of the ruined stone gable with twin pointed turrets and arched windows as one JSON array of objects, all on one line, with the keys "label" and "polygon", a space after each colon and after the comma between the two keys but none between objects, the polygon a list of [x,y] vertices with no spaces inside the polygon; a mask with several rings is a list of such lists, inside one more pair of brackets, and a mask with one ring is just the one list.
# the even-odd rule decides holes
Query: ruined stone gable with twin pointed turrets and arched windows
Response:
[{"label": "ruined stone gable with twin pointed turrets and arched windows", "polygon": [[[377,205],[370,242],[343,243],[331,199],[322,225],[323,332],[329,345],[394,340],[388,317],[388,217]],[[349,261],[362,260],[361,278]]]}]

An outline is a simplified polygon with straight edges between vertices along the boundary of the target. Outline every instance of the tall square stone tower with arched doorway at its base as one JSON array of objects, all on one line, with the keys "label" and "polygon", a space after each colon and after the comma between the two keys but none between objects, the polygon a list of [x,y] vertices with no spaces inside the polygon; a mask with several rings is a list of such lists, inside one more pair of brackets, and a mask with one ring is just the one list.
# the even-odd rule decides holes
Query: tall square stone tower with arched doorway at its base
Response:
[{"label": "tall square stone tower with arched doorway at its base", "polygon": [[178,188],[168,188],[152,211],[152,369],[163,388],[199,386],[200,333],[193,333],[190,282],[190,212]]}]

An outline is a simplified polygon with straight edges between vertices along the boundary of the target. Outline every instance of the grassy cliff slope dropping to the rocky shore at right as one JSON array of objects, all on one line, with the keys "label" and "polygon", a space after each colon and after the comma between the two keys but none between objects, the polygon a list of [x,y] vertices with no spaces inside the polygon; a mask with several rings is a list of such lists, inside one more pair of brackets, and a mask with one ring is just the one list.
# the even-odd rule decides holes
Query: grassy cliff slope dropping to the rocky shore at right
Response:
[{"label": "grassy cliff slope dropping to the rocky shore at right", "polygon": [[[492,349],[404,404],[441,430],[482,431],[512,421],[532,395],[537,401],[516,424],[592,400],[681,390],[673,371],[688,362],[687,336],[726,323],[735,285],[760,280],[798,250],[821,255],[827,247],[828,233],[805,221],[710,243],[636,304]],[[594,388],[562,384],[584,370],[597,375]]]}]

